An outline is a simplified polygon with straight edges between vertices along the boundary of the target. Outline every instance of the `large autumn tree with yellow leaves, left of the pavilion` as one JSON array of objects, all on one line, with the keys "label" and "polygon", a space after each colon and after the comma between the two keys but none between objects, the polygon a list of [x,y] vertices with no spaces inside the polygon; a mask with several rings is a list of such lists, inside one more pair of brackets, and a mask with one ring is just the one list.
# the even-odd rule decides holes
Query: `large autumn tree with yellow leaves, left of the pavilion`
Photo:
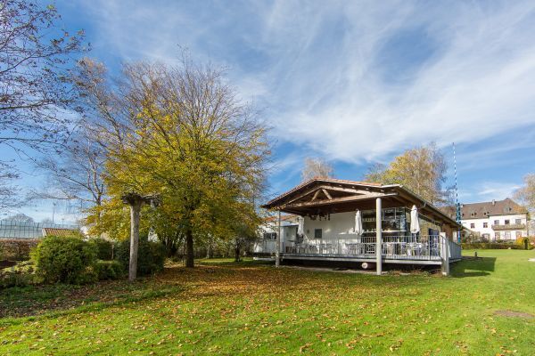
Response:
[{"label": "large autumn tree with yellow leaves, left of the pavilion", "polygon": [[124,220],[118,203],[128,194],[157,197],[159,206],[145,208],[152,216],[145,221],[156,233],[182,236],[186,266],[193,267],[195,239],[231,239],[236,220],[259,222],[253,201],[269,155],[266,127],[223,75],[186,57],[179,66],[128,64],[111,82],[103,65],[80,62],[86,120],[107,158],[109,199],[90,217],[96,229],[113,229],[114,216]]}]

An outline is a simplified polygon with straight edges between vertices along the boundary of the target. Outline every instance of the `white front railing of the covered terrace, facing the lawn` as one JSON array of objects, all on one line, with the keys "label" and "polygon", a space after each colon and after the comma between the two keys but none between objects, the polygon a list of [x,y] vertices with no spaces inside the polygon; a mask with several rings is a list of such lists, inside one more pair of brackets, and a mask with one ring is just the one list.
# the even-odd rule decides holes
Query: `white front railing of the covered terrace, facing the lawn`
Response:
[{"label": "white front railing of the covered terrace, facing the lawn", "polygon": [[[385,259],[439,260],[439,235],[383,236]],[[345,256],[375,258],[375,237],[308,239],[301,243],[283,243],[286,255]]]}]

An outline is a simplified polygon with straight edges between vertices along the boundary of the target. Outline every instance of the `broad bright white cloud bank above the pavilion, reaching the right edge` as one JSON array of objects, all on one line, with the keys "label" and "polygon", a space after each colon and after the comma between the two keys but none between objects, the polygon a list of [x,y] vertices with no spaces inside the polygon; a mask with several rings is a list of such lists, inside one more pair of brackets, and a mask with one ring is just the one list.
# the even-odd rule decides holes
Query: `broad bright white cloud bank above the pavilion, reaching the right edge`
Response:
[{"label": "broad bright white cloud bank above the pavilion, reaching the right edge", "polygon": [[[420,9],[412,10],[416,17],[422,15]],[[433,25],[440,27],[435,34],[439,54],[407,85],[383,83],[370,59],[392,33],[414,26],[412,16],[392,13],[394,25],[389,28],[383,27],[389,20],[376,19],[378,26],[366,28],[364,45],[358,43],[361,31],[350,32],[346,36],[355,43],[342,48],[344,65],[333,65],[328,74],[320,72],[315,77],[320,85],[313,85],[311,95],[307,94],[310,88],[297,90],[295,109],[281,117],[281,134],[330,158],[358,162],[415,143],[471,142],[533,124],[532,6],[517,4],[493,12],[473,9],[470,16],[452,10],[450,16],[438,19],[440,26]],[[355,23],[359,20],[356,14]],[[370,38],[374,43],[369,43]],[[363,55],[357,56],[358,51]],[[347,85],[334,85],[338,78],[352,74]],[[286,83],[302,85],[303,75],[293,73]],[[325,87],[335,88],[326,101]]]}]

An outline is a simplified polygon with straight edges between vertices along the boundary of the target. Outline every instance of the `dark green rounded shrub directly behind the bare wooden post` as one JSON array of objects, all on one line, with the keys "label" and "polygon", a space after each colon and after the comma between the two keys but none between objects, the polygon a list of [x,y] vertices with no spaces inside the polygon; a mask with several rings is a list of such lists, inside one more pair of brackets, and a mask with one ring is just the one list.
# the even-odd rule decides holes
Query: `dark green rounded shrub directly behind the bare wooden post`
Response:
[{"label": "dark green rounded shrub directly behind the bare wooden post", "polygon": [[[162,271],[165,257],[165,247],[161,242],[149,241],[146,237],[140,238],[137,249],[137,274],[146,276]],[[117,247],[117,259],[125,271],[128,271],[130,240],[124,240],[119,243]]]}]

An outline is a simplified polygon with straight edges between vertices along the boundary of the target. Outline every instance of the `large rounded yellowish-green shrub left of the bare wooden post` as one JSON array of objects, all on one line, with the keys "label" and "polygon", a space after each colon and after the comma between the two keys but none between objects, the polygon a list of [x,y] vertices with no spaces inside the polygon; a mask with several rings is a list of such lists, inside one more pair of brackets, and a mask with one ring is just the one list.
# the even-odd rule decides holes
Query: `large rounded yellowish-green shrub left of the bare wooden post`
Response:
[{"label": "large rounded yellowish-green shrub left of the bare wooden post", "polygon": [[95,282],[97,247],[79,237],[48,236],[32,253],[37,275],[45,283]]}]

